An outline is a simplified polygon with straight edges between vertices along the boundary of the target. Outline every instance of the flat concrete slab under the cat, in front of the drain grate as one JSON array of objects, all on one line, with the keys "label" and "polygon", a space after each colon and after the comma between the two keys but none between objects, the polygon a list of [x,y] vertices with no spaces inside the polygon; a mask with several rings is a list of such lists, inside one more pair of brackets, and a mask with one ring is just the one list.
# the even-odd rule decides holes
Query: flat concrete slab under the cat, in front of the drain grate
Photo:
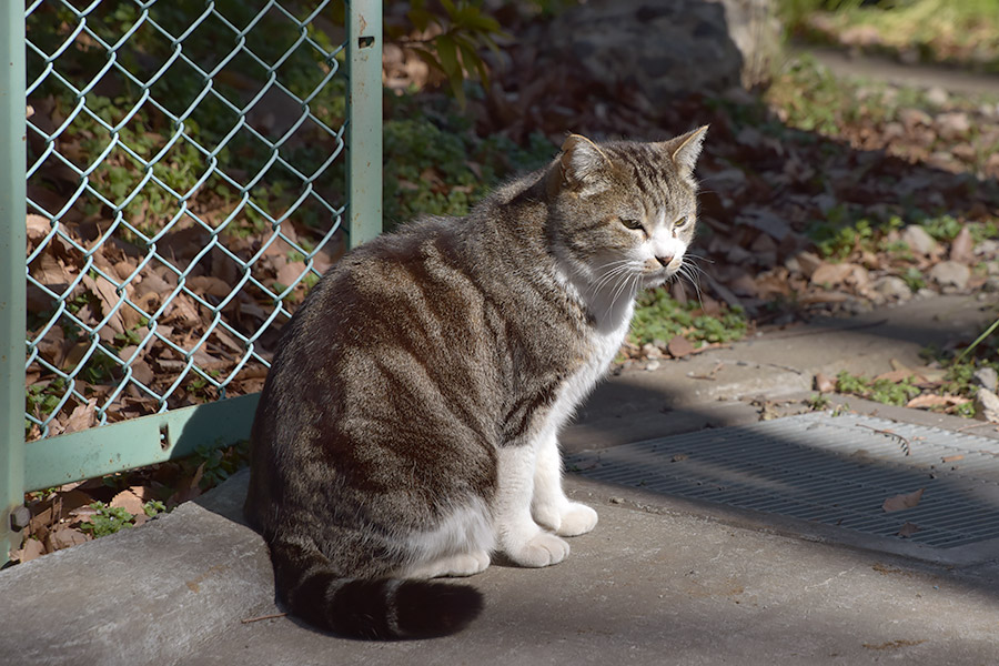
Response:
[{"label": "flat concrete slab under the cat, in front of the drain grate", "polygon": [[[601,524],[546,569],[471,578],[483,615],[447,638],[343,640],[282,617],[232,618],[192,666],[311,664],[991,664],[996,572],[804,542],[572,482]],[[612,504],[614,502],[618,504]],[[260,610],[258,610],[260,612]],[[263,613],[278,612],[265,608]]]}]

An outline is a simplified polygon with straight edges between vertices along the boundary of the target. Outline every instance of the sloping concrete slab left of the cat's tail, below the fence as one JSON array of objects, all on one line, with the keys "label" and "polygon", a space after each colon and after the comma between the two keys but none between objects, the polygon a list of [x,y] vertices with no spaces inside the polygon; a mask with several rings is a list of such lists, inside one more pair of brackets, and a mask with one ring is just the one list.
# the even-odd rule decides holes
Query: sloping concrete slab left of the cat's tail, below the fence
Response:
[{"label": "sloping concrete slab left of the cat's tail, below the fence", "polygon": [[233,519],[242,484],[0,572],[0,663],[182,663],[192,644],[268,607],[266,548]]}]

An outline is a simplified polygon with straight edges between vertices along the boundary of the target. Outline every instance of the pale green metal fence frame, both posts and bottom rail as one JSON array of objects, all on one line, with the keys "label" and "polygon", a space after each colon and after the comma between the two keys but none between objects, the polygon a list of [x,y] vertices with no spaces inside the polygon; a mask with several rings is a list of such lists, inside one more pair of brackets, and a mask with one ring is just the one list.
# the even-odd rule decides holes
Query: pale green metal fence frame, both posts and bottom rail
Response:
[{"label": "pale green metal fence frame, both posts and bottom rail", "polygon": [[[29,11],[38,2],[29,2]],[[213,7],[205,0],[206,8]],[[268,2],[266,11],[274,4]],[[249,436],[259,394],[26,444],[27,94],[24,3],[0,9],[0,565],[20,543],[24,493],[229,445]],[[346,2],[346,221],[350,246],[382,229],[382,3]],[[276,67],[274,68],[276,69]],[[23,509],[21,509],[23,511]]]}]

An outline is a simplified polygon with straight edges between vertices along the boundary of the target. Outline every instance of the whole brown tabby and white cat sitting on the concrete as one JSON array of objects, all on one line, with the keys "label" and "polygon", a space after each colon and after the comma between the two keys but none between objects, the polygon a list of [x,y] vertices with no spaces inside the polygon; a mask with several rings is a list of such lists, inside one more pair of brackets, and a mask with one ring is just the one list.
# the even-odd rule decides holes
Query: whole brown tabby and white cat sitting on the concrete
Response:
[{"label": "whole brown tabby and white cat sitting on the concrete", "polygon": [[278,601],[362,638],[455,633],[494,555],[542,567],[596,512],[558,432],[606,373],[638,290],[693,239],[707,128],[655,143],[571,134],[461,219],[344,256],[282,334],[251,434],[245,514]]}]

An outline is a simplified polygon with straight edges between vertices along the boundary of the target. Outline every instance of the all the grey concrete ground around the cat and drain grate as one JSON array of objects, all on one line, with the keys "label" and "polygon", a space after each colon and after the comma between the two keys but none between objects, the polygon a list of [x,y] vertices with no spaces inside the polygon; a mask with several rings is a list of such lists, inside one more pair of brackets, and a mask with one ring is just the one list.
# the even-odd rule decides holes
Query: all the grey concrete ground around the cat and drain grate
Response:
[{"label": "all the grey concrete ground around the cat and drain grate", "polygon": [[[759,417],[754,398],[808,395],[813,376],[918,365],[930,343],[979,330],[996,301],[941,296],[770,333],[629,371],[563,438],[615,446]],[[991,307],[991,310],[989,310]],[[705,379],[707,377],[707,379]],[[846,398],[899,421],[965,420]],[[967,430],[966,430],[967,432]],[[999,438],[993,427],[975,434]],[[971,564],[907,558],[882,541],[569,476],[601,514],[545,569],[494,565],[465,632],[344,640],[280,613],[266,549],[245,527],[240,474],[145,526],[0,572],[4,664],[906,664],[999,663],[999,552]]]}]

